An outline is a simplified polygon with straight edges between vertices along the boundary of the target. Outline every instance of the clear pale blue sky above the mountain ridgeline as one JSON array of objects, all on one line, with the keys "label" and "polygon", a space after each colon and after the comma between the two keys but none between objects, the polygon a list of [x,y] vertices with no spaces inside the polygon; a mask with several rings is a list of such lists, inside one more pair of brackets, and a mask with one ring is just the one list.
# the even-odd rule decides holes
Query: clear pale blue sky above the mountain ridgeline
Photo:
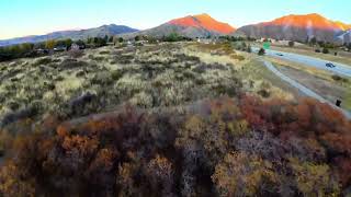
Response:
[{"label": "clear pale blue sky above the mountain ridgeline", "polygon": [[121,24],[138,30],[207,13],[235,27],[319,13],[351,24],[350,0],[0,0],[0,39]]}]

